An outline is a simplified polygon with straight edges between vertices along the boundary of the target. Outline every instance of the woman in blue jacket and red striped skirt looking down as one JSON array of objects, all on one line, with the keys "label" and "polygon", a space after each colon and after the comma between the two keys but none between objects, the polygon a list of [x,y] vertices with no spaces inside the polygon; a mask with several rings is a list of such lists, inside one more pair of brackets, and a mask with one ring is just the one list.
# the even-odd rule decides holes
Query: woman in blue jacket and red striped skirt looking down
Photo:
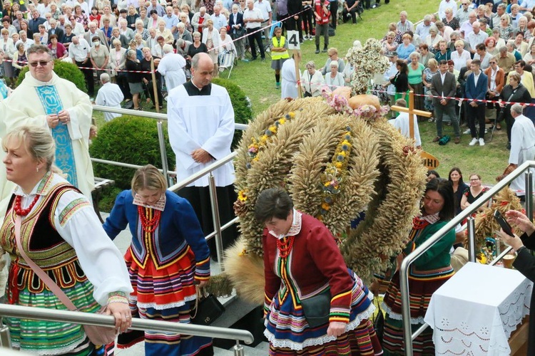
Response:
[{"label": "woman in blue jacket and red striped skirt looking down", "polygon": [[[190,323],[195,284],[203,287],[210,279],[210,250],[190,203],[169,192],[151,164],[138,169],[132,189],[118,195],[104,230],[115,239],[127,225],[131,309],[143,319]],[[175,333],[126,333],[118,345],[129,347],[143,338],[146,356],[213,355],[209,337]]]}]

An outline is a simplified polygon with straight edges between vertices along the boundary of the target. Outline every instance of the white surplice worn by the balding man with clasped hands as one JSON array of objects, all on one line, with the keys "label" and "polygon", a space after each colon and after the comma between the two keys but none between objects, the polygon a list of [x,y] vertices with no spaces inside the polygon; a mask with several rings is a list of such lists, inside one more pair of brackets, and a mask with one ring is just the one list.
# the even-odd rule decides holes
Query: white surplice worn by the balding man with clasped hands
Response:
[{"label": "white surplice worn by the balding man with clasped hands", "polygon": [[[210,95],[188,95],[184,85],[168,96],[169,141],[176,155],[178,182],[230,155],[234,136],[234,109],[227,90],[212,84]],[[198,148],[215,159],[198,163],[191,152]],[[213,171],[215,184],[226,187],[234,182],[234,166],[230,161]],[[208,186],[208,175],[188,184],[188,187]]]}]

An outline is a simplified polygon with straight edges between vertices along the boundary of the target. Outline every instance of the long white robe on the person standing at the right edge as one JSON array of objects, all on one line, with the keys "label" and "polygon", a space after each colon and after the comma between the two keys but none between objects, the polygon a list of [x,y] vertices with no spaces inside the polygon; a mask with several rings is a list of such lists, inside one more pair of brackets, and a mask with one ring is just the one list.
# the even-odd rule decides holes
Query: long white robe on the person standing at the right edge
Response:
[{"label": "long white robe on the person standing at the right edge", "polygon": [[[511,152],[509,153],[509,164],[522,164],[535,159],[535,127],[533,122],[524,115],[519,115],[514,119],[511,128]],[[534,182],[535,184],[535,182]],[[520,174],[518,178],[511,182],[511,189],[520,190],[517,195],[526,195],[526,178]]]}]

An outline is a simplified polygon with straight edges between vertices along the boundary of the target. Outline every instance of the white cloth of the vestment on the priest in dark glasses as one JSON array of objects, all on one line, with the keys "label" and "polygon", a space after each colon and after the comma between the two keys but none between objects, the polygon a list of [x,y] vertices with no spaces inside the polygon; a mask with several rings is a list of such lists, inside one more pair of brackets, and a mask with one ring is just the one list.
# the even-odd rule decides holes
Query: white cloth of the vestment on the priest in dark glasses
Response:
[{"label": "white cloth of the vestment on the priest in dark glasses", "polygon": [[[13,93],[6,100],[5,115],[3,115],[0,125],[0,138],[5,137],[7,132],[23,125],[49,127],[46,122],[45,110],[35,88],[41,85],[54,85],[59,98],[61,98],[63,110],[67,110],[71,115],[71,121],[68,122],[67,127],[72,140],[76,164],[77,188],[91,200],[95,178],[88,145],[93,107],[88,95],[78,90],[76,85],[59,78],[54,72],[49,82],[41,82],[32,77],[30,72],[26,73],[21,85],[13,90]],[[4,159],[4,156],[5,153],[2,151],[0,158]],[[0,169],[0,214],[5,213],[13,188],[14,184],[7,181],[5,167]]]}]

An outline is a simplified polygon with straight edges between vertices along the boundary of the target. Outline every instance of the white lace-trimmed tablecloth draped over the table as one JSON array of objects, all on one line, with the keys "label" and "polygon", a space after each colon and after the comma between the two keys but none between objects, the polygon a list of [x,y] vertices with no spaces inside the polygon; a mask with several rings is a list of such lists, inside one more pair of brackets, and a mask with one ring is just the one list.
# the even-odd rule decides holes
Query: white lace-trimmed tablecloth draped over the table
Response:
[{"label": "white lace-trimmed tablecloth draped over the table", "polygon": [[434,330],[435,355],[509,355],[532,286],[519,271],[467,263],[429,303],[424,320]]}]

